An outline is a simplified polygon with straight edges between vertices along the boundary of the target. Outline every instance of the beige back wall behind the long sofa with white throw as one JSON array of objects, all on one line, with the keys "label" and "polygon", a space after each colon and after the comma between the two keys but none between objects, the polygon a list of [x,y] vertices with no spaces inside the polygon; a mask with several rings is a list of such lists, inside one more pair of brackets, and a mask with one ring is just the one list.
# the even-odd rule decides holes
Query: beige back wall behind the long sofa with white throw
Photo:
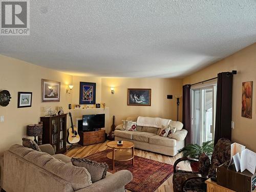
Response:
[{"label": "beige back wall behind the long sofa with white throw", "polygon": [[[111,94],[111,87],[115,93]],[[101,98],[106,106],[110,107],[110,117],[115,115],[116,125],[126,117],[150,116],[168,119],[177,118],[176,99],[167,99],[167,95],[182,94],[182,79],[164,78],[102,78]],[[144,88],[152,89],[151,106],[127,105],[127,89]],[[182,103],[179,107],[181,120]]]}]

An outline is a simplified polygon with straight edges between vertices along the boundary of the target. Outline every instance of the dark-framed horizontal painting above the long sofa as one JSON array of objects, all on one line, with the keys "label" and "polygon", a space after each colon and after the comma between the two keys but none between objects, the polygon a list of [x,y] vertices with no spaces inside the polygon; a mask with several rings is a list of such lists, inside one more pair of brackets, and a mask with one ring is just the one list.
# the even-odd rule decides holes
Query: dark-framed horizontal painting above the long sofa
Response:
[{"label": "dark-framed horizontal painting above the long sofa", "polygon": [[151,89],[128,89],[127,105],[151,106]]}]

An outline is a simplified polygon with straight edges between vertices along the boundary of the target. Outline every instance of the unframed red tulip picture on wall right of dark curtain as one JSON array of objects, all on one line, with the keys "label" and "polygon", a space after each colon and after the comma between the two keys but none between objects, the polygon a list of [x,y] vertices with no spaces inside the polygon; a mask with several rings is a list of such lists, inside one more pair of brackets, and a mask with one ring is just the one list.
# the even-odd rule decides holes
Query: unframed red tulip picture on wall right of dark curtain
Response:
[{"label": "unframed red tulip picture on wall right of dark curtain", "polygon": [[252,81],[242,83],[242,117],[252,117]]}]

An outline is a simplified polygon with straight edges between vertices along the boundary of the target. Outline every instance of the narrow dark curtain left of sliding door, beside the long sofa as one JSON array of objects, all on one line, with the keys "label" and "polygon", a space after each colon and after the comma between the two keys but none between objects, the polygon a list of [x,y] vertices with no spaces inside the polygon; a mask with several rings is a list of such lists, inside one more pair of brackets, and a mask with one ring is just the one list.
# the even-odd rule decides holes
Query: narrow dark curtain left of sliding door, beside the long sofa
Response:
[{"label": "narrow dark curtain left of sliding door, beside the long sofa", "polygon": [[191,91],[190,84],[185,84],[183,86],[182,95],[182,123],[185,130],[187,130],[187,136],[185,138],[185,145],[190,144],[192,140],[192,130],[191,130]]}]

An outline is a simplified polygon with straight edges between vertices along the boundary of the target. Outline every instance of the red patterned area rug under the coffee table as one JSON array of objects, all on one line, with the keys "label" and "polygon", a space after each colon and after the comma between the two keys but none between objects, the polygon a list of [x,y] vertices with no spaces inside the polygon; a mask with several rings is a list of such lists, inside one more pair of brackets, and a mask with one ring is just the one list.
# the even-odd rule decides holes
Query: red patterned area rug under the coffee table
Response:
[{"label": "red patterned area rug under the coffee table", "polygon": [[111,170],[112,162],[106,157],[106,154],[111,151],[105,150],[87,158],[97,162],[106,162],[109,165],[108,172],[110,173],[115,173],[123,169],[130,170],[133,174],[133,180],[125,185],[127,190],[134,192],[153,192],[174,173],[173,165],[138,156],[135,156],[134,166],[132,165],[132,160],[124,162],[115,161],[115,170]]}]

